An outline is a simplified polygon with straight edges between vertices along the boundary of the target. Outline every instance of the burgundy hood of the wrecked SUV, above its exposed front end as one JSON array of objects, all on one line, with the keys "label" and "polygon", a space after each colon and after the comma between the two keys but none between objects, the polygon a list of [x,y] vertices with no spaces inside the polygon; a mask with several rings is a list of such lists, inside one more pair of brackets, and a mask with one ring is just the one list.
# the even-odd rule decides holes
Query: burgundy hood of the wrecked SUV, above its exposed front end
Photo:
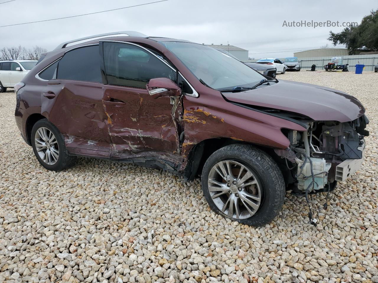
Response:
[{"label": "burgundy hood of the wrecked SUV, above its exposed front end", "polygon": [[244,105],[301,114],[315,121],[348,122],[365,108],[357,98],[324,86],[280,80],[270,86],[243,92],[223,92],[227,100]]}]

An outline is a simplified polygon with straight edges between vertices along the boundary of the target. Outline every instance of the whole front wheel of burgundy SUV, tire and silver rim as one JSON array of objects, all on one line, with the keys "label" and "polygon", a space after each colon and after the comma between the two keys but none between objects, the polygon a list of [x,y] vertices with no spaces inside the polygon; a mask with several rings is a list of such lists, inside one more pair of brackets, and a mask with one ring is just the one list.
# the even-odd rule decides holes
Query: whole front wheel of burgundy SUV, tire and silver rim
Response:
[{"label": "whole front wheel of burgundy SUV, tire and silver rim", "polygon": [[210,208],[234,221],[262,226],[279,213],[285,183],[277,163],[249,145],[229,145],[205,162],[202,189]]}]

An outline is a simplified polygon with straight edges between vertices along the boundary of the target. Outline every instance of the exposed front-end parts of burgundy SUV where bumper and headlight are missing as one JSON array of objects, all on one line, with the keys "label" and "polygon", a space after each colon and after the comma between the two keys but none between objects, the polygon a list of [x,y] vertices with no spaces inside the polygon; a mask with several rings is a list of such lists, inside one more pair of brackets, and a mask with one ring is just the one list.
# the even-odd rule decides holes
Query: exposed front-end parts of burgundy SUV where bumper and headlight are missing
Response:
[{"label": "exposed front-end parts of burgundy SUV where bumper and headlight are missing", "polygon": [[283,129],[290,140],[286,151],[276,150],[291,171],[289,188],[304,195],[332,190],[336,181],[345,181],[362,164],[366,115],[350,122],[309,122],[304,132]]}]

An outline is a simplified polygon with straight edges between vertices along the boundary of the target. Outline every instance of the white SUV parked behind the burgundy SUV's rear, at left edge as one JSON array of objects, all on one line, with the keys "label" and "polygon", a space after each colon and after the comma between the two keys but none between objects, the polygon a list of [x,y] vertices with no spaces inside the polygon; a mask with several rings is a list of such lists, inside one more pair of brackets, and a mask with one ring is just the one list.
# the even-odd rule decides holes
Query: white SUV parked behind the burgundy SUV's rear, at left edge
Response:
[{"label": "white SUV parked behind the burgundy SUV's rear, at left edge", "polygon": [[36,60],[0,61],[0,92],[13,88],[36,64]]}]

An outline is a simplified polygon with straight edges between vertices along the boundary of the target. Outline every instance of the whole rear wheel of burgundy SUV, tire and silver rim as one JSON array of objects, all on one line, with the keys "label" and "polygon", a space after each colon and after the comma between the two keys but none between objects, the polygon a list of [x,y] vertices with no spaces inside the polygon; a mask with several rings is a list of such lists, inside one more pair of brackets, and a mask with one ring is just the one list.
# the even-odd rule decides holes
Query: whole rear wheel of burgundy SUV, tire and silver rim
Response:
[{"label": "whole rear wheel of burgundy SUV, tire and silver rim", "polygon": [[31,144],[39,163],[48,170],[66,169],[76,160],[67,154],[62,134],[47,119],[39,120],[33,126]]}]

